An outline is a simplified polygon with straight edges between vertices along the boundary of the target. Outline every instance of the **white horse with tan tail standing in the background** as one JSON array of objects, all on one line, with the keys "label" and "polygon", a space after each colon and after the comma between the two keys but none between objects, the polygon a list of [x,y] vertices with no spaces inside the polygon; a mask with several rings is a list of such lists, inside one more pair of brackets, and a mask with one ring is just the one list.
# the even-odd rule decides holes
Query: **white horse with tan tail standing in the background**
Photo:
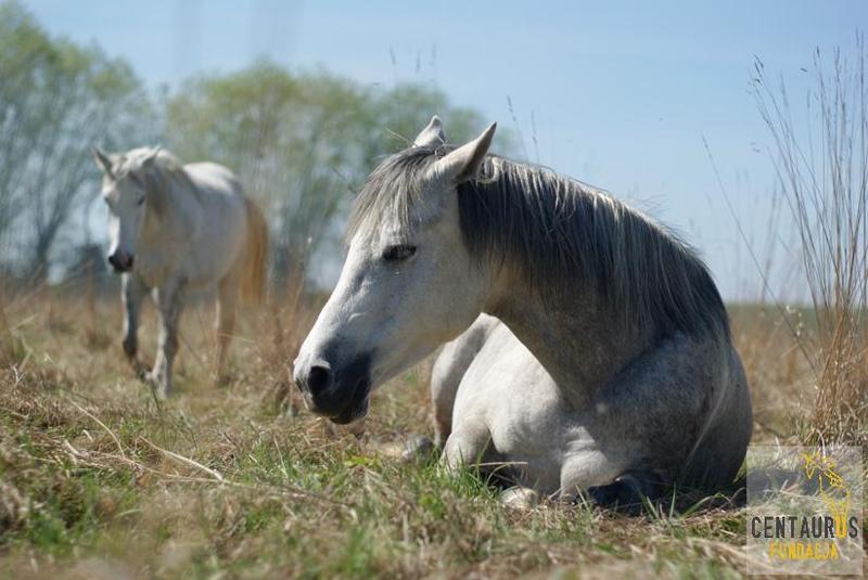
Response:
[{"label": "white horse with tan tail standing in the background", "polygon": [[258,298],[268,233],[256,205],[229,169],[181,165],[164,150],[122,154],[93,150],[108,205],[108,262],[123,274],[124,351],[135,361],[142,298],[159,310],[159,345],[148,379],[161,397],[171,388],[178,322],[186,291],[217,284],[217,374],[225,372],[239,288]]}]

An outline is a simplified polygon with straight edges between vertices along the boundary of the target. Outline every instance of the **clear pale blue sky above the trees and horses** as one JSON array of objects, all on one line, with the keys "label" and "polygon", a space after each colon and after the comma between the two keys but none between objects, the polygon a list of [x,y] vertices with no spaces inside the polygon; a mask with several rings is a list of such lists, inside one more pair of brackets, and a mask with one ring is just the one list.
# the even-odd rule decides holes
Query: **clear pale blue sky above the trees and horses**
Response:
[{"label": "clear pale blue sky above the trees and horses", "polygon": [[700,248],[730,298],[760,282],[702,137],[760,253],[775,179],[749,91],[754,57],[801,98],[814,49],[852,52],[868,23],[865,0],[25,4],[50,31],[124,56],[154,88],[267,55],[362,83],[434,83],[515,129],[509,98],[531,160],[650,208]]}]

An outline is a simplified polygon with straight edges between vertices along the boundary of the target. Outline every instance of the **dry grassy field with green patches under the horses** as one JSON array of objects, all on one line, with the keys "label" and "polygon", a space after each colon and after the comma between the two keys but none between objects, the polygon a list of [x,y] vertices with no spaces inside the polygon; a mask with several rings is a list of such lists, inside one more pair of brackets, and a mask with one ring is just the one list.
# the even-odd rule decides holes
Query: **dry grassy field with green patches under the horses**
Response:
[{"label": "dry grassy field with green patches under the horses", "polygon": [[[404,438],[431,433],[426,364],[381,389],[355,433],[297,410],[288,382],[293,328],[309,324],[314,308],[304,320],[247,312],[226,388],[212,385],[212,311],[191,308],[165,403],[123,358],[114,296],[42,292],[5,310],[0,575],[744,573],[743,507],[725,499],[642,517],[580,504],[514,511],[472,473],[401,463]],[[794,440],[814,398],[791,338],[800,314],[751,307],[732,317],[754,442]],[[148,359],[154,335],[148,309]]]}]

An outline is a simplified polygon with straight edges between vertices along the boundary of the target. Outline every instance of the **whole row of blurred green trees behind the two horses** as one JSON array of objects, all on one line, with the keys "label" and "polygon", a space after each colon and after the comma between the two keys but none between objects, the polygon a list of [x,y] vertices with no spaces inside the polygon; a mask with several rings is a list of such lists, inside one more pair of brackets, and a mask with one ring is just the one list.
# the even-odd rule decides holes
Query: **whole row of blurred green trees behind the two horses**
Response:
[{"label": "whole row of blurred green trees behind the two horses", "polygon": [[478,112],[427,85],[366,86],[268,61],[189,78],[156,94],[129,63],[50,35],[0,4],[0,271],[41,283],[100,256],[100,173],[89,150],[162,145],[235,171],[269,218],[277,278],[340,250],[365,177],[433,113],[470,138]]}]

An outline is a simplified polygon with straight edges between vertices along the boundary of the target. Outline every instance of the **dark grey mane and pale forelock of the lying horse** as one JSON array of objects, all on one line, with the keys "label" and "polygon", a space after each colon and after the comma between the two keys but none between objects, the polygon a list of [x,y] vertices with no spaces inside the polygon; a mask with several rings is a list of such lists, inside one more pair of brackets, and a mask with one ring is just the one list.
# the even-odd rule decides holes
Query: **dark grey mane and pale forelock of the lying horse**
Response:
[{"label": "dark grey mane and pale forelock of the lying horse", "polygon": [[[422,179],[452,149],[416,146],[386,158],[359,192],[347,240],[387,219],[412,229],[412,208],[425,203]],[[584,282],[635,327],[728,336],[726,308],[695,252],[610,194],[495,155],[457,189],[471,256],[516,267],[544,299]]]}]

